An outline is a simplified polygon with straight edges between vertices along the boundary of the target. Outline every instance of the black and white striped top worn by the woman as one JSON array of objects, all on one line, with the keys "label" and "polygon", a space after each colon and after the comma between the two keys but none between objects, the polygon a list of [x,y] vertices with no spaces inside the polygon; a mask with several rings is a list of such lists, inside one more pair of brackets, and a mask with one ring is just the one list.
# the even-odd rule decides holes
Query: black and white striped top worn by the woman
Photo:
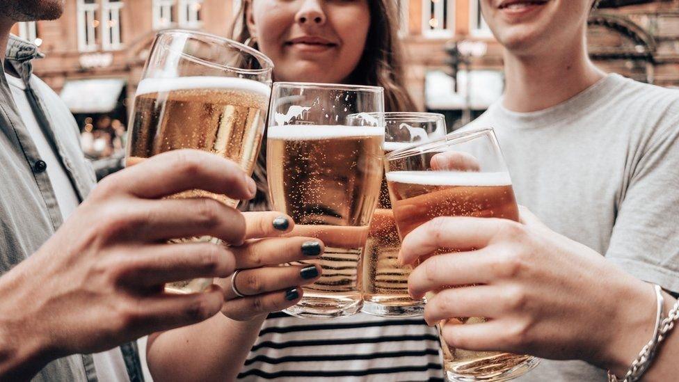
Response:
[{"label": "black and white striped top worn by the woman", "polygon": [[364,314],[314,321],[273,313],[241,381],[444,381],[436,328]]}]

